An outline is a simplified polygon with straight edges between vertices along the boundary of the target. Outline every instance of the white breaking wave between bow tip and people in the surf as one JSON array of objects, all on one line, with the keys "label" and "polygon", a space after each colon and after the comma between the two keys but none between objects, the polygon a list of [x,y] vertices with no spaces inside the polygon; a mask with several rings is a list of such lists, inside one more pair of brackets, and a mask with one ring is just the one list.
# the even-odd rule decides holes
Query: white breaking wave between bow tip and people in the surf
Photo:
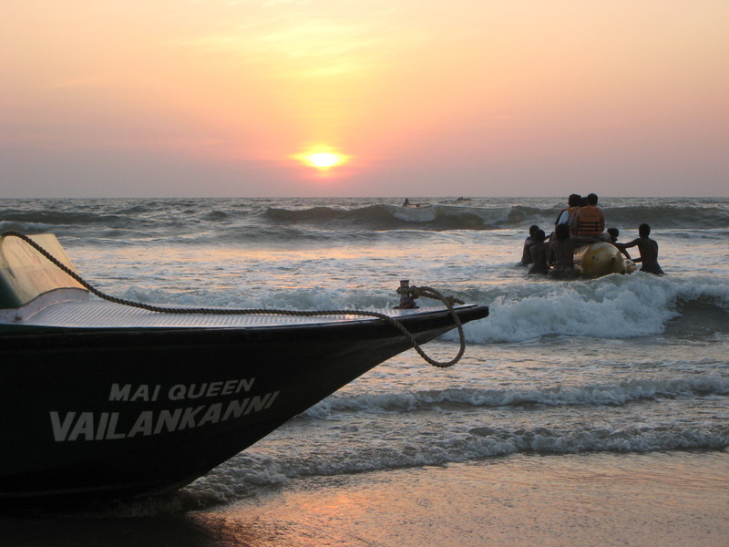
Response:
[{"label": "white breaking wave between bow tip and people in the surf", "polygon": [[[540,292],[478,294],[488,320],[465,325],[467,341],[520,342],[549,335],[633,338],[729,334],[729,287],[721,277],[672,279],[615,274],[589,282],[539,286]],[[447,339],[455,340],[453,334]]]}]

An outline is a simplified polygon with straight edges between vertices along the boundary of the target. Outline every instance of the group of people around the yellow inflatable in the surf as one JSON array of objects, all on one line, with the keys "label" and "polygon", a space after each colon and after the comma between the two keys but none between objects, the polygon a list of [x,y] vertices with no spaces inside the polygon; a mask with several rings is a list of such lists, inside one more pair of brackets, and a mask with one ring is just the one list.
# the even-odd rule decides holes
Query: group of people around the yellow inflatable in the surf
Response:
[{"label": "group of people around the yellow inflatable in the surf", "polygon": [[[554,223],[554,231],[549,237],[539,226],[529,228],[529,236],[524,242],[521,265],[531,266],[529,274],[549,274],[558,279],[570,279],[575,276],[575,249],[600,241],[612,243],[628,259],[641,263],[641,272],[662,275],[658,263],[658,243],[652,240],[651,227],[641,224],[639,237],[630,243],[618,243],[620,231],[609,228],[605,231],[605,214],[598,207],[597,194],[590,193],[583,198],[580,194],[571,194],[568,206],[560,211]],[[638,247],[639,258],[631,258],[626,249]]]}]

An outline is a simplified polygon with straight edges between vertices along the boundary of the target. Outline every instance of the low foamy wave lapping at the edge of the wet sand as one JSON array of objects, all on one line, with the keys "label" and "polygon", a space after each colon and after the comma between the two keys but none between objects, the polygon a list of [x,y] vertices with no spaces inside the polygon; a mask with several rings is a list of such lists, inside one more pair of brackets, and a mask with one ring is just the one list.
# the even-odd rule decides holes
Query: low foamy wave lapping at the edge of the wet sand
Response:
[{"label": "low foamy wave lapping at the edge of the wet sand", "polygon": [[272,458],[254,450],[212,470],[185,490],[207,501],[233,501],[250,495],[252,487],[271,487],[288,480],[447,465],[513,454],[577,454],[586,452],[652,452],[675,449],[721,450],[729,444],[729,426],[716,428],[470,428],[432,443],[414,441],[407,447],[373,446],[337,453]]}]

